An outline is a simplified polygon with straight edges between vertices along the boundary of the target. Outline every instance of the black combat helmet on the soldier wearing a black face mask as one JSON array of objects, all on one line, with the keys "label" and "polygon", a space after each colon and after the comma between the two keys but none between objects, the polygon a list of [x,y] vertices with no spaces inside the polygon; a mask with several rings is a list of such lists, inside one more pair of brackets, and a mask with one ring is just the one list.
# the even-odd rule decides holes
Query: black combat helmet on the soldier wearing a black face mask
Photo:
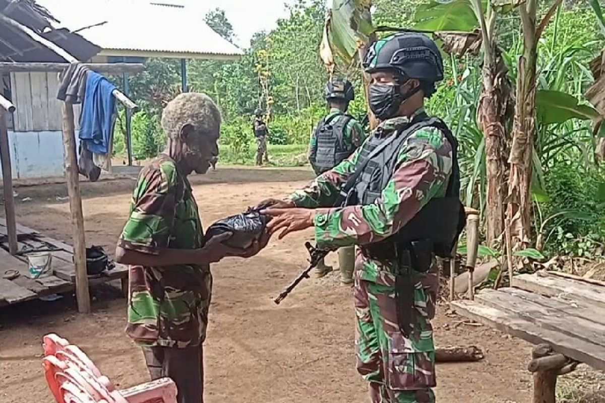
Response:
[{"label": "black combat helmet on the soldier wearing a black face mask", "polygon": [[430,37],[397,33],[374,42],[364,58],[367,73],[396,69],[406,79],[434,83],[443,80],[443,59]]}]

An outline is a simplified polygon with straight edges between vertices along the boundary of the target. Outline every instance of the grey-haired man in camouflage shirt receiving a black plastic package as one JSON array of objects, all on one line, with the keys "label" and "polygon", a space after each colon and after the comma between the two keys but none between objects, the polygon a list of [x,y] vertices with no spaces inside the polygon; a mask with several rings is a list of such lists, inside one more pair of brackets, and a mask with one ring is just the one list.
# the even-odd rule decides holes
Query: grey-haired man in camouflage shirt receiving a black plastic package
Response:
[{"label": "grey-haired man in camouflage shirt receiving a black plastic package", "polygon": [[179,403],[203,402],[202,343],[212,293],[209,263],[248,257],[221,241],[203,243],[197,204],[187,176],[206,173],[218,155],[220,112],[204,94],[178,95],[162,113],[165,153],[140,173],[131,213],[116,248],[130,265],[126,334],[143,347],[152,379],[172,378]]}]

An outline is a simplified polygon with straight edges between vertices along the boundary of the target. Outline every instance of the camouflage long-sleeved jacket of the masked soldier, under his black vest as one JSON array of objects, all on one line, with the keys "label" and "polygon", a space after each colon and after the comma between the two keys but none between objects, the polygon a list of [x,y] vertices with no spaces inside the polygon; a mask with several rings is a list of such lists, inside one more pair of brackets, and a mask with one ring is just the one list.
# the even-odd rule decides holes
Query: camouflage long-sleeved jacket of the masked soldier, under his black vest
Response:
[{"label": "camouflage long-sleeved jacket of the masked soldier, under his black vest", "polygon": [[[392,135],[408,121],[401,117],[386,120],[371,136]],[[452,169],[451,144],[438,129],[425,127],[402,143],[394,172],[380,198],[368,205],[332,207],[339,190],[355,172],[363,147],[290,196],[299,207],[316,208],[313,220],[320,248],[378,242],[396,233],[431,198],[445,195]],[[361,255],[356,268],[358,279],[385,285],[392,282],[396,272],[394,267]],[[430,283],[431,288],[436,286],[434,281]]]}]

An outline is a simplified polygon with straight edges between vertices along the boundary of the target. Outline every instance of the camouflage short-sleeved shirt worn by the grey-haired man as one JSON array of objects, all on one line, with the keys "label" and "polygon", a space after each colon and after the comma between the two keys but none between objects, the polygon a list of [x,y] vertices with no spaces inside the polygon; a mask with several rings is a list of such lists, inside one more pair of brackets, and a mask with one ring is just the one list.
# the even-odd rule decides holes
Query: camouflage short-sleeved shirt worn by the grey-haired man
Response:
[{"label": "camouflage short-sleeved shirt worn by the grey-haired man", "polygon": [[[139,175],[118,245],[157,255],[197,249],[203,230],[191,185],[160,155]],[[206,337],[212,276],[208,265],[131,266],[126,334],[145,346],[198,346]]]}]

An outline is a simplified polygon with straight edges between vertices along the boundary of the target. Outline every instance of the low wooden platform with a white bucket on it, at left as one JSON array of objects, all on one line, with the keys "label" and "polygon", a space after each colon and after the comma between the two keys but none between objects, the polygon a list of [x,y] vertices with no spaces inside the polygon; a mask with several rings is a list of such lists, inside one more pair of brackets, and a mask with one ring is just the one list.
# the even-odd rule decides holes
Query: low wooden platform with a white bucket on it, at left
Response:
[{"label": "low wooden platform with a white bucket on it, at left", "polygon": [[[29,271],[27,257],[24,255],[11,256],[8,253],[5,221],[0,219],[0,237],[4,237],[4,242],[0,242],[0,306],[34,300],[50,294],[74,291],[76,288],[76,272],[73,263],[73,248],[23,225],[17,224],[17,233],[21,253],[28,250],[48,251],[48,249],[56,249],[50,251],[53,256],[53,276],[36,280],[27,277]],[[20,276],[13,280],[2,279],[4,273],[11,269],[18,271]],[[124,288],[127,278],[128,268],[116,264],[113,269],[102,272],[99,276],[89,277],[88,281],[93,286],[120,279]]]}]

